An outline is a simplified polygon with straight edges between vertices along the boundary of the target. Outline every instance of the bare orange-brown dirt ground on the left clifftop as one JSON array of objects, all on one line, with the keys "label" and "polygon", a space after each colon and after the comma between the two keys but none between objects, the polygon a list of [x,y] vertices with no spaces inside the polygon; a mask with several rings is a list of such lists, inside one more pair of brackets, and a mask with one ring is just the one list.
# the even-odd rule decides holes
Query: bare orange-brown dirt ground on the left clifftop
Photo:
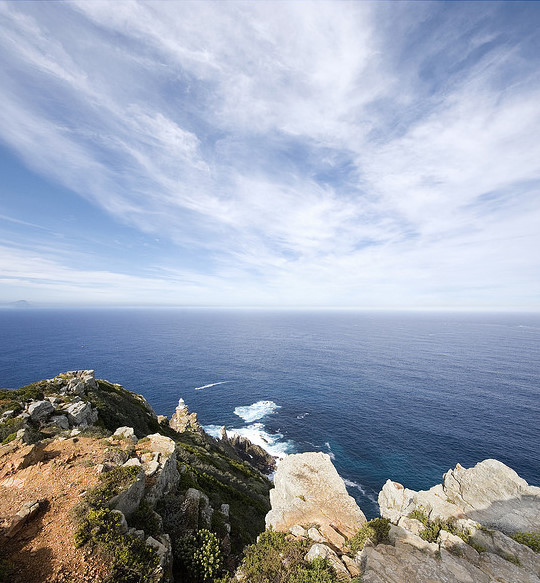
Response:
[{"label": "bare orange-brown dirt ground on the left clifftop", "polygon": [[[95,465],[104,447],[92,438],[0,447],[0,557],[12,566],[10,583],[83,583],[107,577],[103,557],[75,548],[70,519],[81,494],[98,481]],[[13,516],[36,500],[42,501],[36,516],[7,538]]]}]

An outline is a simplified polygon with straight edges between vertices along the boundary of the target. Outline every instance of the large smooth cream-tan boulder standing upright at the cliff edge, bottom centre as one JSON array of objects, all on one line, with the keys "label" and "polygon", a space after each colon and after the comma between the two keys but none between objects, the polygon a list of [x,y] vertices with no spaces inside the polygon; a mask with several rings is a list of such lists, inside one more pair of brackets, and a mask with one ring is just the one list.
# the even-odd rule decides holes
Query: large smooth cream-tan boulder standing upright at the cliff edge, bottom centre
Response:
[{"label": "large smooth cream-tan boulder standing upright at the cliff edge, bottom centre", "polygon": [[317,524],[346,538],[366,522],[349,496],[330,457],[321,452],[289,455],[278,464],[270,490],[266,526],[287,532],[296,524]]}]

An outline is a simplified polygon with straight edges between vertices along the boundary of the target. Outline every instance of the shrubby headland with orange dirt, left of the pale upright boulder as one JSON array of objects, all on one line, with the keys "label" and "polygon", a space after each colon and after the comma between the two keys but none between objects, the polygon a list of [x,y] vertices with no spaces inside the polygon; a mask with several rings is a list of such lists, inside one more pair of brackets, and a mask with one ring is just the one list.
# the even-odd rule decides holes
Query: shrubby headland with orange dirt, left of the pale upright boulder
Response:
[{"label": "shrubby headland with orange dirt, left of the pale upright boulder", "polygon": [[264,530],[270,482],[182,400],[69,371],[0,391],[0,438],[2,582],[195,582]]}]

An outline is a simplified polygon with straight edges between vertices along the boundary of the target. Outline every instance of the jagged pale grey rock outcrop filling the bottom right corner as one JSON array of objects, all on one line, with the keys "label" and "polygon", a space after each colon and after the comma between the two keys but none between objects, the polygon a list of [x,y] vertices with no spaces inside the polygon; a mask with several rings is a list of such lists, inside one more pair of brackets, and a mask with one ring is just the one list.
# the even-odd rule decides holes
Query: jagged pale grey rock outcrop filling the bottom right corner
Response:
[{"label": "jagged pale grey rock outcrop filling the bottom right corner", "polygon": [[391,544],[359,553],[363,580],[539,583],[540,556],[509,536],[540,532],[539,494],[497,460],[458,464],[427,491],[388,480],[379,506],[393,523]]}]

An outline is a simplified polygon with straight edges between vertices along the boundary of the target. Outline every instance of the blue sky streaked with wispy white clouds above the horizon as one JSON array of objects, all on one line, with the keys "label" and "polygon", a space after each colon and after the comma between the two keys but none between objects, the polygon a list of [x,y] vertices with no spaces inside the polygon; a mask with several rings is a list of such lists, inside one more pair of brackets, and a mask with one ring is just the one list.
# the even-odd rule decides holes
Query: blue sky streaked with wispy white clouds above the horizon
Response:
[{"label": "blue sky streaked with wispy white clouds above the horizon", "polygon": [[0,2],[0,303],[540,310],[540,2]]}]

